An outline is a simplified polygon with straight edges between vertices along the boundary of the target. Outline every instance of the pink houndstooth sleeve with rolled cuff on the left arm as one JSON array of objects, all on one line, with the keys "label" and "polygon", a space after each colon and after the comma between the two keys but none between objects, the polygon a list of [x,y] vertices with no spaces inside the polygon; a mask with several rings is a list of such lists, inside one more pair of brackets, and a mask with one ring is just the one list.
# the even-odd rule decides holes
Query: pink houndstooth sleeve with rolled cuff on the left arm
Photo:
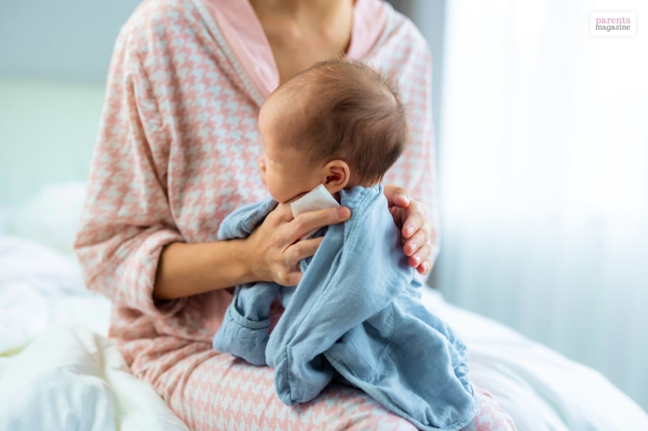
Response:
[{"label": "pink houndstooth sleeve with rolled cuff on the left arm", "polygon": [[183,300],[154,301],[162,248],[183,241],[168,199],[170,139],[128,28],[115,44],[74,248],[85,283],[114,305],[169,314]]}]

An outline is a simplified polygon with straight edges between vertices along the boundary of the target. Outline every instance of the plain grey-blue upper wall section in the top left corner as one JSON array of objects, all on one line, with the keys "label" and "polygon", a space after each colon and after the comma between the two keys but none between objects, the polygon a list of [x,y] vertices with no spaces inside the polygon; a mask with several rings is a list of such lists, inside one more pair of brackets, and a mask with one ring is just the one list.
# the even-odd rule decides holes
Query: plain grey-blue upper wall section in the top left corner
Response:
[{"label": "plain grey-blue upper wall section in the top left corner", "polygon": [[0,77],[100,83],[138,0],[0,3]]}]

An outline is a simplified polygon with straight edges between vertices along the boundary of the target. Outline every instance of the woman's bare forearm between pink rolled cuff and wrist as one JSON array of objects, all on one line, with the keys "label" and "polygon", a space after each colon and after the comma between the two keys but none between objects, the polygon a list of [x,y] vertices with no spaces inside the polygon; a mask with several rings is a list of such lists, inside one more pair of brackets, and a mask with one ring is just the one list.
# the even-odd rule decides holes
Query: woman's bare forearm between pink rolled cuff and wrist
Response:
[{"label": "woman's bare forearm between pink rolled cuff and wrist", "polygon": [[254,280],[245,240],[171,243],[163,248],[153,297],[176,299]]}]

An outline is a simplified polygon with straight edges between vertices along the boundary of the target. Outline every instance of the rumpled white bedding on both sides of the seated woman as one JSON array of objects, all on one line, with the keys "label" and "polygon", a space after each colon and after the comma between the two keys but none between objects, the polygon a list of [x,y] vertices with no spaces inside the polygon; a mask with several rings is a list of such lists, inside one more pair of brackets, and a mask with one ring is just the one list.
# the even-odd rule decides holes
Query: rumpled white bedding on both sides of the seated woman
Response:
[{"label": "rumpled white bedding on both sides of the seated woman", "polygon": [[[424,301],[462,334],[473,381],[520,431],[648,430],[598,372],[437,292]],[[109,311],[69,257],[0,236],[0,430],[187,430],[105,338]]]}]

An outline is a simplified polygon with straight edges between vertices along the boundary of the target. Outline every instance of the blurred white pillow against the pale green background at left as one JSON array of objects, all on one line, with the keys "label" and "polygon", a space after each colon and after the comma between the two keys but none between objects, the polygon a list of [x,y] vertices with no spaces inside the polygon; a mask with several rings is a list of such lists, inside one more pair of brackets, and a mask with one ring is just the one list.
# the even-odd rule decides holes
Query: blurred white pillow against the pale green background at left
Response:
[{"label": "blurred white pillow against the pale green background at left", "polygon": [[84,199],[85,181],[45,186],[12,211],[6,233],[73,256]]}]

